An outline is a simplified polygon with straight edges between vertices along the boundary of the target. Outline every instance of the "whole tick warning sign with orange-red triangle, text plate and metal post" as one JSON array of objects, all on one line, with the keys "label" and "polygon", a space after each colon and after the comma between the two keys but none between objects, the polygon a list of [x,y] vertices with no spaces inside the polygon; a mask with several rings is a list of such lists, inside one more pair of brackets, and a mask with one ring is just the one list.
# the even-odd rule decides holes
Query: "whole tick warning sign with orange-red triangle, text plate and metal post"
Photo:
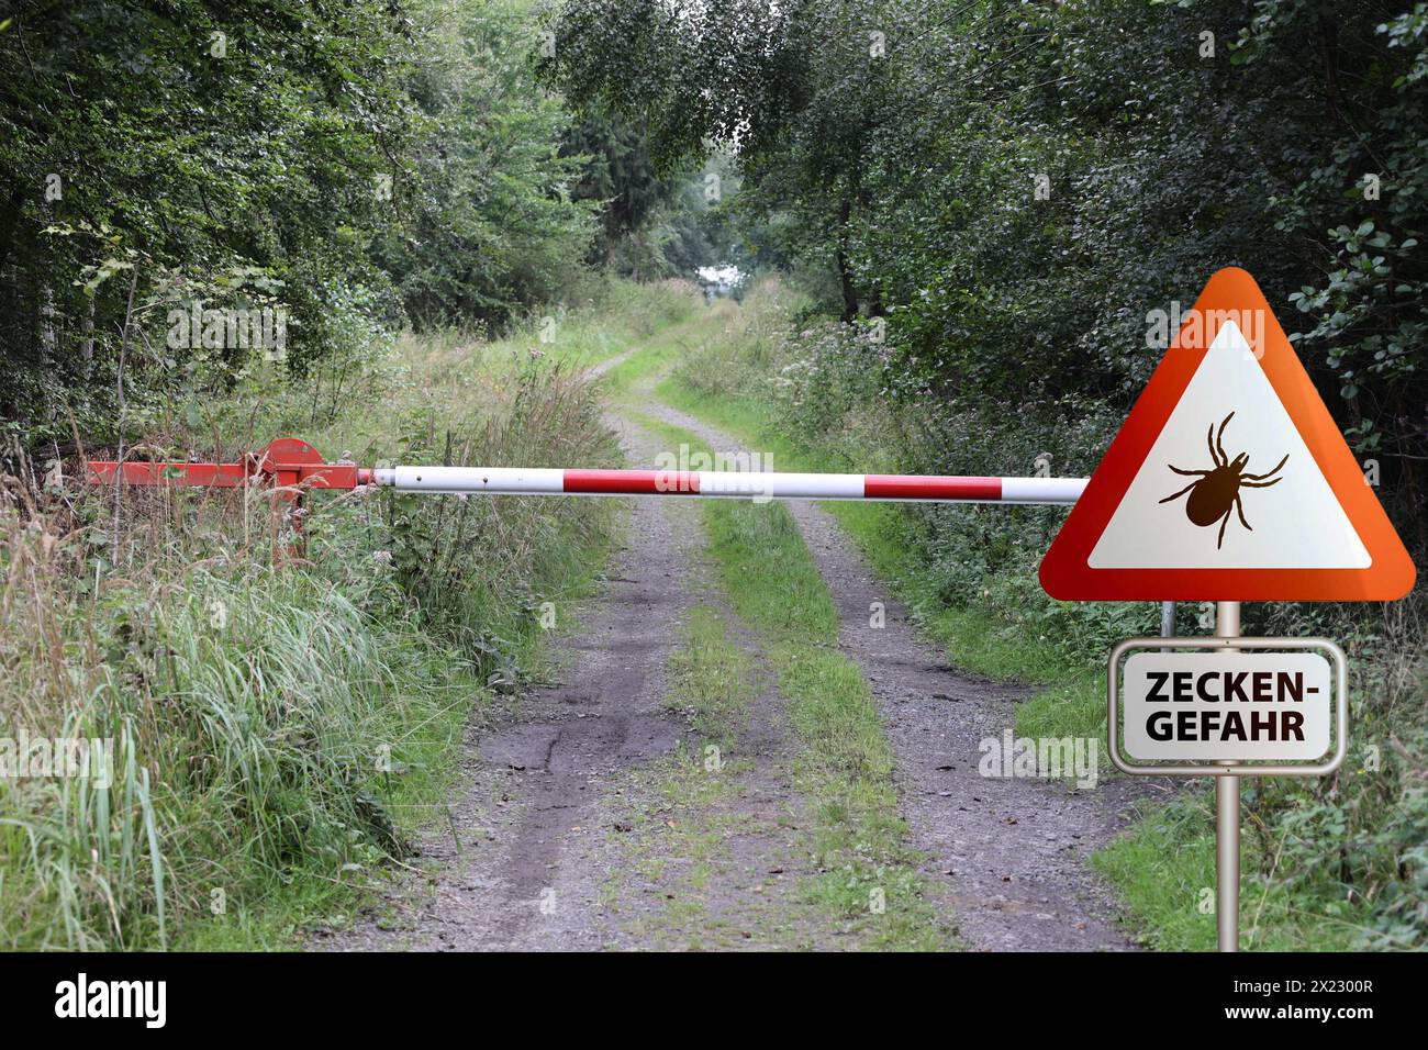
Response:
[{"label": "whole tick warning sign with orange-red triangle, text plate and metal post", "polygon": [[1221,951],[1240,940],[1240,777],[1322,776],[1348,751],[1342,650],[1242,637],[1241,601],[1391,601],[1415,576],[1264,293],[1220,270],[1041,561],[1041,584],[1062,600],[1215,603],[1214,637],[1201,639],[1164,637],[1162,606],[1162,637],[1111,651],[1107,690],[1118,769],[1214,777]]}]

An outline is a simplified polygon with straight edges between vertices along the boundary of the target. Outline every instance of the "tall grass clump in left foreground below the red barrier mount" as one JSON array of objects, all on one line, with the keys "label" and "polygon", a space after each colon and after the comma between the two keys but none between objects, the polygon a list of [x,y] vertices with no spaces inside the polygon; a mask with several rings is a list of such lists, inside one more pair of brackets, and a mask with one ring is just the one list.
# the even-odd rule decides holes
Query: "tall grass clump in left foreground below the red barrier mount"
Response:
[{"label": "tall grass clump in left foreground below the red barrier mount", "polygon": [[113,783],[0,781],[0,944],[166,946],[297,866],[400,851],[383,777],[477,689],[388,581],[211,563],[91,591],[79,551],[7,523],[6,734],[111,740]]}]

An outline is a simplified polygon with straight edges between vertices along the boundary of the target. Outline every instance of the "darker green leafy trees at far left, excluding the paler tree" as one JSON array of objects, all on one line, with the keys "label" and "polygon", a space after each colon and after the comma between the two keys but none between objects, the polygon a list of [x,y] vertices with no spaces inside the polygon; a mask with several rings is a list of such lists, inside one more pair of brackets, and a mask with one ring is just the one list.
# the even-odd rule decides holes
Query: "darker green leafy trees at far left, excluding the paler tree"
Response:
[{"label": "darker green leafy trees at far left, excluding the paler tree", "polygon": [[129,383],[167,386],[187,363],[167,309],[244,306],[237,270],[280,289],[291,367],[321,356],[331,289],[384,284],[361,230],[411,131],[408,39],[367,0],[21,6],[0,36],[3,414],[69,436],[77,390],[113,433],[121,353]]}]

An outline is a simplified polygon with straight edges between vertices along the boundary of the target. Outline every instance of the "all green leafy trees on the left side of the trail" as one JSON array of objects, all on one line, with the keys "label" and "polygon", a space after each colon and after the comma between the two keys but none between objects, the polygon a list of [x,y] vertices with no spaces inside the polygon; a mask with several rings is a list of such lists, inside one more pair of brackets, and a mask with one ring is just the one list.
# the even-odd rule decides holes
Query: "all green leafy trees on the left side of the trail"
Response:
[{"label": "all green leafy trees on the left side of the trail", "polygon": [[[84,440],[146,434],[263,356],[273,381],[336,384],[404,324],[490,330],[565,294],[594,216],[537,43],[520,0],[21,6],[0,34],[0,416],[30,449],[67,444],[70,414]],[[173,320],[261,309],[280,347]]]}]

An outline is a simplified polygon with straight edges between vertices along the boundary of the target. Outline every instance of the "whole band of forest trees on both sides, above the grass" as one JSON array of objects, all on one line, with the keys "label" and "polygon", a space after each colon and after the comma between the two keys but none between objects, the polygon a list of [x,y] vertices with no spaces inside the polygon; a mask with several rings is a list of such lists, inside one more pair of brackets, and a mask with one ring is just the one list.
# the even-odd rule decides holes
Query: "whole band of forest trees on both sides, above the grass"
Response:
[{"label": "whole band of forest trees on both sides, above the grass", "polygon": [[[281,304],[301,374],[406,324],[498,330],[590,266],[691,273],[734,229],[818,309],[885,319],[890,393],[1081,416],[1142,384],[1147,313],[1234,263],[1294,304],[1422,543],[1424,17],[20,4],[0,30],[7,426],[33,447],[66,407],[113,419],[126,343],[136,393],[241,367],[160,354],[160,307]],[[705,169],[737,171],[717,220]]]}]

